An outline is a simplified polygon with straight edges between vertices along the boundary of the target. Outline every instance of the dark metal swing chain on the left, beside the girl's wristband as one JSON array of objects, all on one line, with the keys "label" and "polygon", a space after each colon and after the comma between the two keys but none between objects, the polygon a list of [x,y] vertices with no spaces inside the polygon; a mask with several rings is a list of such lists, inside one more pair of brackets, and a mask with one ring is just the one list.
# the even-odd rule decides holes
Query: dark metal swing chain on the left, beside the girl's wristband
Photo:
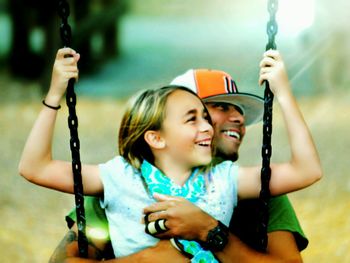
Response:
[{"label": "dark metal swing chain on the left, beside the girl's wristband", "polygon": [[[69,5],[67,1],[58,1],[58,15],[61,17],[62,23],[60,26],[60,34],[64,47],[71,46],[72,32],[68,24]],[[66,92],[66,103],[69,110],[68,127],[70,130],[70,149],[72,154],[72,170],[74,178],[74,195],[75,209],[78,224],[78,246],[80,257],[87,258],[88,242],[86,238],[86,220],[84,209],[84,191],[81,178],[81,162],[80,162],[80,142],[78,136],[78,117],[75,111],[76,95],[74,92],[75,79],[70,79]]]}]

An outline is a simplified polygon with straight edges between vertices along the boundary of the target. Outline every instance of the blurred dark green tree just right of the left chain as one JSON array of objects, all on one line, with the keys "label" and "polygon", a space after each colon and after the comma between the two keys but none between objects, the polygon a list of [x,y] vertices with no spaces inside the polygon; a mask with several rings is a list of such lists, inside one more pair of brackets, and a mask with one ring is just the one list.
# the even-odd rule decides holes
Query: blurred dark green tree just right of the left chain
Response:
[{"label": "blurred dark green tree just right of the left chain", "polygon": [[125,5],[124,0],[73,2],[73,47],[82,54],[81,69],[92,69],[93,65],[119,55],[119,19]]}]

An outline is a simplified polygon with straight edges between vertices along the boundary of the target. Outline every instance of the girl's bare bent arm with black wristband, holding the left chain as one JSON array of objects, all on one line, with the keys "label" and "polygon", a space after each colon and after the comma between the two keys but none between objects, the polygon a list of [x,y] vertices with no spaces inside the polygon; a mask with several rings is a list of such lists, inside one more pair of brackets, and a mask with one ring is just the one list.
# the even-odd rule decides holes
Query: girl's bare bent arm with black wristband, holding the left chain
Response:
[{"label": "girl's bare bent arm with black wristband, holding the left chain", "polygon": [[[45,103],[60,105],[68,81],[78,78],[80,55],[73,49],[58,50],[52,71],[51,85]],[[19,173],[28,181],[62,192],[73,193],[73,172],[69,162],[52,159],[52,138],[57,110],[43,106],[29,134],[19,163]],[[84,193],[98,194],[103,190],[96,165],[82,165]]]}]

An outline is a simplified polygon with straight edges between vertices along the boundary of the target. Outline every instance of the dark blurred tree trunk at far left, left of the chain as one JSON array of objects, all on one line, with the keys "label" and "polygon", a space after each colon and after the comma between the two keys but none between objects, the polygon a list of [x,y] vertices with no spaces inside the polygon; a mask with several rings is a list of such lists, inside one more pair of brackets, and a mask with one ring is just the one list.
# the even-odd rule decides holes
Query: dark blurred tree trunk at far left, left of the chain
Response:
[{"label": "dark blurred tree trunk at far left, left of the chain", "polygon": [[[54,22],[57,23],[53,19],[56,11],[52,3],[45,0],[11,0],[8,3],[12,20],[10,70],[16,76],[38,78],[44,69],[46,56],[54,52],[57,38],[54,38],[52,29]],[[34,30],[40,32],[42,41],[45,41],[37,50],[31,41]]]}]

